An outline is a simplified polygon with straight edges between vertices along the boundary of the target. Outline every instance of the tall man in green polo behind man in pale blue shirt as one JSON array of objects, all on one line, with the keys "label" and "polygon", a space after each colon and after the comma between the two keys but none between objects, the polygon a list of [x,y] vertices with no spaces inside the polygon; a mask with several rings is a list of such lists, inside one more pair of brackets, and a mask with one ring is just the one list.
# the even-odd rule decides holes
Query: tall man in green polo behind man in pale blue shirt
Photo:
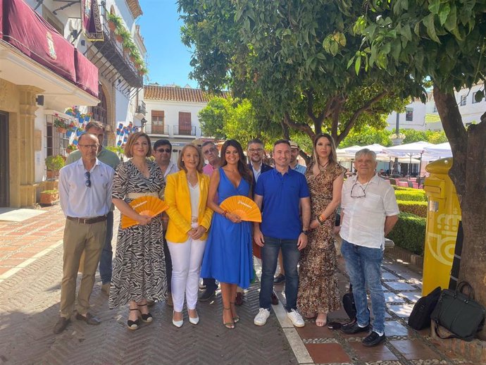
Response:
[{"label": "tall man in green polo behind man in pale blue shirt", "polygon": [[[108,166],[111,166],[113,170],[116,170],[116,167],[120,163],[120,159],[116,155],[116,153],[109,151],[108,149],[103,147],[103,140],[104,140],[104,125],[103,123],[99,123],[96,121],[92,121],[87,123],[85,126],[85,132],[95,135],[99,141],[99,147],[96,153],[96,157],[99,161],[106,163]],[[73,151],[69,154],[68,159],[66,160],[66,165],[73,163],[81,158],[81,151],[78,149],[77,151]],[[111,240],[113,238],[113,211],[115,210],[115,206],[111,204],[111,209],[106,216],[106,237],[105,237],[105,245],[103,247],[103,252],[101,252],[101,259],[99,260],[99,276],[101,277],[101,291],[104,292],[106,295],[110,292],[110,284],[111,284],[111,272],[113,270],[111,266],[111,261],[113,259],[113,249],[111,247]]]}]

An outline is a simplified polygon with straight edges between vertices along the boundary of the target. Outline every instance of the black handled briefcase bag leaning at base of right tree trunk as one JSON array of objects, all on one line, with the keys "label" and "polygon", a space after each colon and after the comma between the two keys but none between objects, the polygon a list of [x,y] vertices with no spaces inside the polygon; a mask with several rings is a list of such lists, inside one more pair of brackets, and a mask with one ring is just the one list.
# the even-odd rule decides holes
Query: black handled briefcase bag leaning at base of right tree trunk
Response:
[{"label": "black handled briefcase bag leaning at base of right tree trunk", "polygon": [[[463,293],[466,287],[468,295]],[[466,281],[461,281],[455,291],[442,290],[431,318],[435,322],[434,329],[438,337],[471,341],[485,323],[485,307],[475,302],[473,287]],[[446,328],[452,334],[442,337],[438,332],[439,326]]]}]

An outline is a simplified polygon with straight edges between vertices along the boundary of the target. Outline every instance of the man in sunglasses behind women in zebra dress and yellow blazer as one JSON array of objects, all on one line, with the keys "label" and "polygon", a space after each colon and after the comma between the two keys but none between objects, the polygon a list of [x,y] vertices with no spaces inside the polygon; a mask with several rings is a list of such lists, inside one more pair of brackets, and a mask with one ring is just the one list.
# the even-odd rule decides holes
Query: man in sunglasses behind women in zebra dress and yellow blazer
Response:
[{"label": "man in sunglasses behind women in zebra dress and yellow blazer", "polygon": [[[154,151],[152,152],[155,157],[155,161],[158,167],[161,168],[163,173],[163,179],[166,180],[167,175],[171,173],[177,173],[179,168],[177,164],[170,160],[172,156],[172,144],[169,140],[157,140],[154,143]],[[168,225],[169,217],[164,212],[162,214],[162,223],[163,223],[163,231],[166,232],[167,225]],[[169,307],[173,307],[174,304],[172,302],[172,292],[171,287],[171,280],[172,280],[172,259],[170,258],[169,247],[167,245],[166,237],[163,237],[163,254],[164,259],[166,261],[166,276],[167,276],[167,305]],[[154,304],[151,300],[147,301],[149,307]]]}]

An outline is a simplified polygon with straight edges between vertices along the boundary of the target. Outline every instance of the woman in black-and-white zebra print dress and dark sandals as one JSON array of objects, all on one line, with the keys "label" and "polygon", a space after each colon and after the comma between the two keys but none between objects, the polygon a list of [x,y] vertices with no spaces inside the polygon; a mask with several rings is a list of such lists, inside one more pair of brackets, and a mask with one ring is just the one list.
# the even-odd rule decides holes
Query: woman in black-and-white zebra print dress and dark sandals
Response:
[{"label": "woman in black-and-white zebra print dress and dark sandals", "polygon": [[113,178],[113,204],[139,224],[118,228],[109,307],[130,304],[127,327],[139,328],[139,316],[150,323],[152,316],[147,300],[166,297],[166,264],[163,256],[163,228],[161,216],[142,216],[128,205],[144,195],[158,197],[165,187],[163,174],[151,156],[149,136],[137,132],[127,140],[125,155],[129,161],[120,163]]}]

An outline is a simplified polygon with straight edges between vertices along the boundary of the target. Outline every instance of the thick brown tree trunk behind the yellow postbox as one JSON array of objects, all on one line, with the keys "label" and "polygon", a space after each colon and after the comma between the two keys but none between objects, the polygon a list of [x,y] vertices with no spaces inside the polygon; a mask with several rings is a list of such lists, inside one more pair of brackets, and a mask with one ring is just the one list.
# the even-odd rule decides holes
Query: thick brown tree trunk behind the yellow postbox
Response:
[{"label": "thick brown tree trunk behind the yellow postbox", "polygon": [[[486,113],[478,125],[463,127],[453,90],[434,86],[434,99],[451,144],[454,163],[449,176],[461,205],[464,233],[459,279],[470,283],[475,299],[486,306]],[[486,340],[486,328],[478,334]]]}]

